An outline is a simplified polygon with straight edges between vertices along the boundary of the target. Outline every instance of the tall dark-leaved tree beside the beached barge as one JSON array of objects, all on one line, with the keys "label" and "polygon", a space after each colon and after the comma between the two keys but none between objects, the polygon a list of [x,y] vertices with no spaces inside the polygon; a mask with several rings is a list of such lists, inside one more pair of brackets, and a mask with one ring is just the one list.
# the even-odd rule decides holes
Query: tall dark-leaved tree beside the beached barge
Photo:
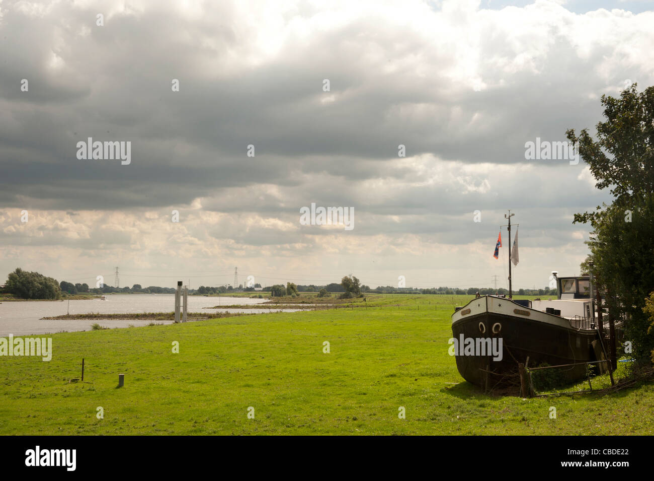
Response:
[{"label": "tall dark-leaved tree beside the beached barge", "polygon": [[[654,291],[654,87],[640,94],[636,84],[619,98],[602,96],[604,118],[597,140],[587,130],[566,135],[587,162],[599,189],[610,188],[613,202],[574,215],[590,223],[593,274],[610,315],[625,319],[633,355],[648,360],[654,332],[648,331],[645,298]],[[587,266],[582,264],[582,270]]]}]

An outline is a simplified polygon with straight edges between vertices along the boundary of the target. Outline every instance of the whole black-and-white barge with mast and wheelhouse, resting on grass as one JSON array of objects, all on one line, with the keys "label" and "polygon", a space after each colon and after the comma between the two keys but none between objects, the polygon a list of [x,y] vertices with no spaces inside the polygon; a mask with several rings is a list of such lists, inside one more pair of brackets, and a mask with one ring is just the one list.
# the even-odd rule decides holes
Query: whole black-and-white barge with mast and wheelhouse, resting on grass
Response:
[{"label": "whole black-and-white barge with mast and wheelhouse, resting on grass", "polygon": [[[509,217],[509,241],[510,222]],[[598,361],[603,349],[596,329],[591,278],[557,274],[552,273],[557,299],[513,300],[509,251],[509,296],[478,296],[455,309],[454,355],[466,381],[489,388],[500,383],[502,376],[517,373],[519,363],[527,362],[529,367],[574,365],[563,370],[570,382],[587,376],[587,366],[579,363]]]}]

